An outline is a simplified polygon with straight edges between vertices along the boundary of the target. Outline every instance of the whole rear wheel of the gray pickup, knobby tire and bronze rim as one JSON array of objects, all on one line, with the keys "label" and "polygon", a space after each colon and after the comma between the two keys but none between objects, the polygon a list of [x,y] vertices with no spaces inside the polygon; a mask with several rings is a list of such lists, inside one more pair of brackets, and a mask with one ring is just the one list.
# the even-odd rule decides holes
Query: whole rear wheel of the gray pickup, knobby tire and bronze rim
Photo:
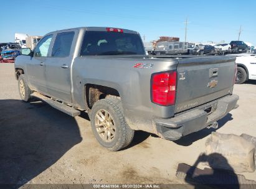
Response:
[{"label": "whole rear wheel of the gray pickup, knobby tire and bronze rim", "polygon": [[120,99],[100,99],[93,104],[91,125],[97,141],[111,151],[131,143],[134,130],[126,124]]}]

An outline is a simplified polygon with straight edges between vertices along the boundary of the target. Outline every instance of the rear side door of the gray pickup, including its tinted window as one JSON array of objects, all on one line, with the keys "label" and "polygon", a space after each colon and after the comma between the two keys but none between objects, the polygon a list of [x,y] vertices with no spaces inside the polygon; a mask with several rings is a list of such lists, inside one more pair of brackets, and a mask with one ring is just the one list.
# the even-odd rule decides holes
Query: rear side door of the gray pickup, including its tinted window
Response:
[{"label": "rear side door of the gray pickup, including its tinted window", "polygon": [[46,86],[50,96],[71,102],[70,69],[77,30],[57,33],[45,65]]}]

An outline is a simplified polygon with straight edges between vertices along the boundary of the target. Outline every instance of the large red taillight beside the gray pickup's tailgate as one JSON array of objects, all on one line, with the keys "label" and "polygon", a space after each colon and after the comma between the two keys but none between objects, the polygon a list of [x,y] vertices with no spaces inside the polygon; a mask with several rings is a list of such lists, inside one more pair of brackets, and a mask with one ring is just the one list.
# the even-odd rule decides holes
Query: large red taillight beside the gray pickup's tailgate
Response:
[{"label": "large red taillight beside the gray pickup's tailgate", "polygon": [[151,98],[153,103],[171,106],[176,98],[176,71],[155,73],[152,78]]}]

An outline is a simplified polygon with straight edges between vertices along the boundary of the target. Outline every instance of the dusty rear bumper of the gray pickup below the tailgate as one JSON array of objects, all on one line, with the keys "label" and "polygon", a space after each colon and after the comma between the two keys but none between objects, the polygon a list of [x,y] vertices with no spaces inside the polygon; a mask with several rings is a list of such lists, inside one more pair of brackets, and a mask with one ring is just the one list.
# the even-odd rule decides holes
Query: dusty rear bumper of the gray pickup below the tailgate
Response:
[{"label": "dusty rear bumper of the gray pickup below the tailgate", "polygon": [[224,118],[229,111],[237,108],[238,99],[239,96],[232,94],[191,111],[178,114],[171,119],[154,118],[156,132],[158,136],[164,139],[176,141],[187,134],[211,126],[217,120]]}]

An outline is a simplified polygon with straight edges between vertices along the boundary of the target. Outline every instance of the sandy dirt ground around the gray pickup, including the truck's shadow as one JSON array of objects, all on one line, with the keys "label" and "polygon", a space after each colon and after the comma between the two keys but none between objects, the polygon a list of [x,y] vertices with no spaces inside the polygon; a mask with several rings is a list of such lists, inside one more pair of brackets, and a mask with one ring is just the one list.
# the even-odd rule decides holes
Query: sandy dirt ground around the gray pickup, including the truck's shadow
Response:
[{"label": "sandy dirt ground around the gray pickup, including the truck's shadow", "polygon": [[[256,82],[235,85],[234,93],[240,107],[217,132],[256,136]],[[212,131],[176,142],[140,131],[129,147],[110,152],[93,137],[86,113],[72,118],[40,101],[23,103],[14,65],[0,64],[0,183],[184,183],[178,164],[193,165]],[[256,180],[255,172],[244,175]]]}]

